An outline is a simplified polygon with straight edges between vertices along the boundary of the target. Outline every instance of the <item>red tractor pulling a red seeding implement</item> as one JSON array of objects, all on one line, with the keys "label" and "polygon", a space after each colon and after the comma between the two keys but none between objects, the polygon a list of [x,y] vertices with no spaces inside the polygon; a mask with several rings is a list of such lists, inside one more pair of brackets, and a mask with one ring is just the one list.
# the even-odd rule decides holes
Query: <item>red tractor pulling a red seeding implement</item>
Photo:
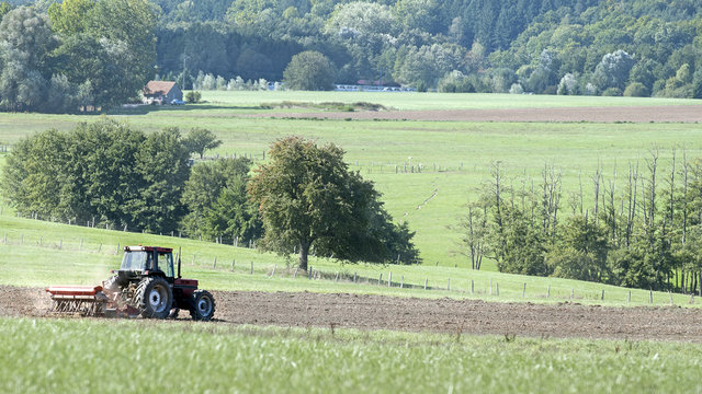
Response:
[{"label": "red tractor pulling a red seeding implement", "polygon": [[180,266],[179,258],[176,276],[172,248],[125,246],[122,266],[103,286],[46,289],[54,300],[52,312],[166,318],[188,310],[193,320],[211,320],[214,298],[197,290],[197,280],[181,278]]}]

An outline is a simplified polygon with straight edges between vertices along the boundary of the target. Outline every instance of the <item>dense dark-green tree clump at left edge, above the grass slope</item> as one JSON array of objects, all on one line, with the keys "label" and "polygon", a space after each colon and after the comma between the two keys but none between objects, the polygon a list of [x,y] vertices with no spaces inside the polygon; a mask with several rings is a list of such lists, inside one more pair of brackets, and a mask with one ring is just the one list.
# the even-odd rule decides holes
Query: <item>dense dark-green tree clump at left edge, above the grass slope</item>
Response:
[{"label": "dense dark-green tree clump at left edge, above the grass slope", "polygon": [[155,232],[177,228],[189,152],[177,129],[146,137],[124,124],[80,124],[22,140],[2,192],[20,212]]}]

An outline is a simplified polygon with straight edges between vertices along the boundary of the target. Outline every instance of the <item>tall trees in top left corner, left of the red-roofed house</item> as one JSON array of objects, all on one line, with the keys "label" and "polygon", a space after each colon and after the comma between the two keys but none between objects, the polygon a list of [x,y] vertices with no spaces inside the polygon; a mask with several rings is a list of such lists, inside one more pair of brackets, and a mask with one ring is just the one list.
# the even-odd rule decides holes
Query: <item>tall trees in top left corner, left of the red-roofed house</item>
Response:
[{"label": "tall trees in top left corner, left of the red-roofed house", "polygon": [[0,108],[75,113],[135,100],[154,77],[157,13],[146,0],[0,3]]}]

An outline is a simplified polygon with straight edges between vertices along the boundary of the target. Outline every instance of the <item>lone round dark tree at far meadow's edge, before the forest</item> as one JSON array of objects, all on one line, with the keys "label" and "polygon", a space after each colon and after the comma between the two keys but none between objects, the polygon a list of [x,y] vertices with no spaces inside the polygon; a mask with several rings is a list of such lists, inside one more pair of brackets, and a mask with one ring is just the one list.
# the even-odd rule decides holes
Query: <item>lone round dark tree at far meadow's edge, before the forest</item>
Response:
[{"label": "lone round dark tree at far meadow's edge, before the forest", "polygon": [[331,90],[333,79],[335,71],[329,59],[314,50],[293,56],[283,72],[283,81],[293,90]]}]

